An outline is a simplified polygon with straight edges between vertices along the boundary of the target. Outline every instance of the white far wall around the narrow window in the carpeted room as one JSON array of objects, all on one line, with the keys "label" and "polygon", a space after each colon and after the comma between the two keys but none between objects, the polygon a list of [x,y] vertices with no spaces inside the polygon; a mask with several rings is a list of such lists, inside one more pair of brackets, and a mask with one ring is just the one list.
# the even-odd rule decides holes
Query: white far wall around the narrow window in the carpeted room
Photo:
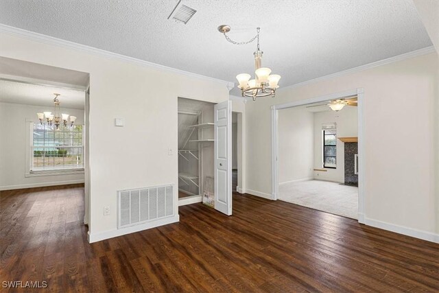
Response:
[{"label": "white far wall around the narrow window in the carpeted room", "polygon": [[326,168],[326,172],[314,171],[317,180],[344,183],[344,143],[339,137],[358,137],[357,107],[346,106],[335,112],[328,110],[314,113],[314,169],[323,168],[322,124],[335,122],[337,124],[337,168]]}]

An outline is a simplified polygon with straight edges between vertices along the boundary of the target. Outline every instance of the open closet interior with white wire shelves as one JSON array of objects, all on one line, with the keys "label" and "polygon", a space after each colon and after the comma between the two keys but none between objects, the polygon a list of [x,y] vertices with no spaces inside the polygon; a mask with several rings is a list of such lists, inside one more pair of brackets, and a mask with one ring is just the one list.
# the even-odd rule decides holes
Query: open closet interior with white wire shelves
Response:
[{"label": "open closet interior with white wire shelves", "polygon": [[208,195],[213,196],[213,106],[178,98],[179,205],[202,202],[204,194],[209,204]]}]

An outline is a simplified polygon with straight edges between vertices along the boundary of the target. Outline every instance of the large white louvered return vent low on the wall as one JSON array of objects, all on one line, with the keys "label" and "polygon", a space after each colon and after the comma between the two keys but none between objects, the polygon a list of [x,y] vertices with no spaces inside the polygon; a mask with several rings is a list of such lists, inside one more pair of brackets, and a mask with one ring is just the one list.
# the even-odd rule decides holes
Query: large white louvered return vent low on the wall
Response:
[{"label": "large white louvered return vent low on the wall", "polygon": [[174,215],[173,186],[117,191],[117,228]]}]

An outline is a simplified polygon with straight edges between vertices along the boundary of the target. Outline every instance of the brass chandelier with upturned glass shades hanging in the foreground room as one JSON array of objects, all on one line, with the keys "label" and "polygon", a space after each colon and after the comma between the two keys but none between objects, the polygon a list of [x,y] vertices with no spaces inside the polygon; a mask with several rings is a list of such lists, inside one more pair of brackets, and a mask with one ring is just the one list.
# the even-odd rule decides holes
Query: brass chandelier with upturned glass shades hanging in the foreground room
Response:
[{"label": "brass chandelier with upturned glass shades hanging in the foreground room", "polygon": [[230,40],[227,36],[227,33],[230,32],[229,25],[219,25],[218,31],[224,34],[224,37],[228,42],[233,43],[235,45],[246,45],[248,43],[252,43],[254,40],[257,40],[257,49],[254,51],[254,79],[250,80],[251,75],[248,73],[241,73],[236,75],[236,79],[238,80],[238,87],[241,89],[241,94],[243,97],[252,97],[253,101],[257,99],[257,97],[268,97],[271,95],[274,97],[276,95],[276,89],[279,87],[278,82],[281,79],[281,75],[278,74],[270,74],[272,70],[268,67],[261,67],[262,54],[263,51],[259,49],[259,31],[260,28],[257,27],[257,34],[248,42],[235,42],[234,40]]}]

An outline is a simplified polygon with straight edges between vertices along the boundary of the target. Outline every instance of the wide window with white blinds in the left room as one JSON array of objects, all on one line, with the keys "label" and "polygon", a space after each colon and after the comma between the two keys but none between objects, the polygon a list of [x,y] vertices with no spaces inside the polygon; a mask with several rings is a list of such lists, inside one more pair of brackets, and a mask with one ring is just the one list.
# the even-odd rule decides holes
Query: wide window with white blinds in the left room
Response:
[{"label": "wide window with white blinds in the left room", "polygon": [[30,172],[84,168],[82,125],[32,123]]}]

